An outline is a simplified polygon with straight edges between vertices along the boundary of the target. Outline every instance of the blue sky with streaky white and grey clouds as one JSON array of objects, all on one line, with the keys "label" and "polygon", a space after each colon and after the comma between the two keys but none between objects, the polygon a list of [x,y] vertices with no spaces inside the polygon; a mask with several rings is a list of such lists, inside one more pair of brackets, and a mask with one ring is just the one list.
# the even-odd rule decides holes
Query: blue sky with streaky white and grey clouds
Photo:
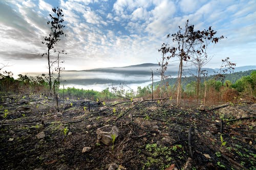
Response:
[{"label": "blue sky with streaky white and grey clouds", "polygon": [[52,7],[64,14],[67,37],[56,49],[68,53],[61,56],[66,70],[157,63],[166,35],[187,19],[196,30],[212,26],[227,37],[209,47],[208,67],[226,57],[238,66],[256,64],[255,0],[2,0],[0,63],[6,69],[47,71],[41,41],[49,35]]}]

